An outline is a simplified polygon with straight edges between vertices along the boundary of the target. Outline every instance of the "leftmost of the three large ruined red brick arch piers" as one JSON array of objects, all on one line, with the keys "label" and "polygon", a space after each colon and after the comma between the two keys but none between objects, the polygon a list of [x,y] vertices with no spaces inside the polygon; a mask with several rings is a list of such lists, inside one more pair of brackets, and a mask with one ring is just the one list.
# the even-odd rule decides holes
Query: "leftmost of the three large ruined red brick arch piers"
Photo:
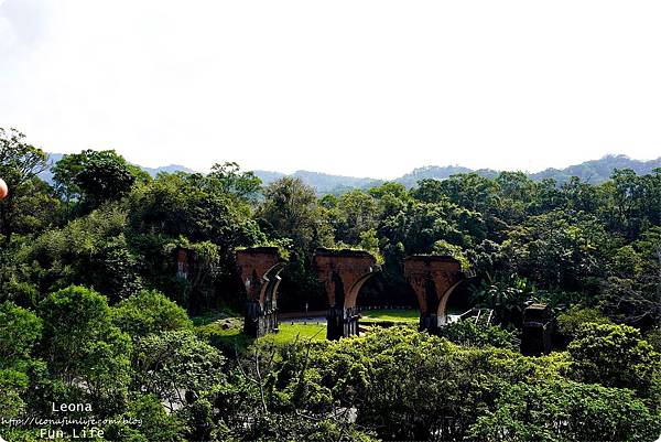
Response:
[{"label": "leftmost of the three large ruined red brick arch piers", "polygon": [[279,273],[285,265],[277,247],[237,251],[237,266],[248,294],[243,322],[243,333],[248,336],[278,332]]}]

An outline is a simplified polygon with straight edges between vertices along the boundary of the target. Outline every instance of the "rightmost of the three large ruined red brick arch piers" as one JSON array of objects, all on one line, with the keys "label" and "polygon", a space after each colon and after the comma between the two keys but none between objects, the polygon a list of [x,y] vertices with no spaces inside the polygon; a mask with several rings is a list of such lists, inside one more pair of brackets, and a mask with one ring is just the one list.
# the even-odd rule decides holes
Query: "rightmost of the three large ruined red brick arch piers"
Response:
[{"label": "rightmost of the three large ruined red brick arch piers", "polygon": [[447,323],[447,300],[465,280],[462,265],[448,256],[413,255],[404,260],[404,277],[418,297],[420,330],[435,332]]}]

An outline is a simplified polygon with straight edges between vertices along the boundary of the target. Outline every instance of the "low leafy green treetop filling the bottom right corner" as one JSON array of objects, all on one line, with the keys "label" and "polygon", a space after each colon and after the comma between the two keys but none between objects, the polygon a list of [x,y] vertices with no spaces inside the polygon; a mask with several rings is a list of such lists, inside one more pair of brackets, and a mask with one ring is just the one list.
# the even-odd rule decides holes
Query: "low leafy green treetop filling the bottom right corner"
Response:
[{"label": "low leafy green treetop filling the bottom right corner", "polygon": [[651,441],[658,417],[630,391],[571,380],[506,387],[472,425],[470,441]]}]

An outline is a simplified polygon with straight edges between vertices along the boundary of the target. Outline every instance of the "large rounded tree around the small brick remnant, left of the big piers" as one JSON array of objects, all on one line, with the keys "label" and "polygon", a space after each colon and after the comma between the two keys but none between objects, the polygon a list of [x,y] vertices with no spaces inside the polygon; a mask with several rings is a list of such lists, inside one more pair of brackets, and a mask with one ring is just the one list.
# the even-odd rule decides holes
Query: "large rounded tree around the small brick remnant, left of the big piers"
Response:
[{"label": "large rounded tree around the small brick remnant, left of the big piers", "polygon": [[[221,301],[237,306],[241,284],[235,249],[268,239],[251,217],[251,203],[227,193],[218,180],[162,173],[128,198],[129,238],[144,258],[144,287],[167,293],[193,314],[217,309]],[[195,260],[188,280],[176,277],[176,247],[189,249]]]}]

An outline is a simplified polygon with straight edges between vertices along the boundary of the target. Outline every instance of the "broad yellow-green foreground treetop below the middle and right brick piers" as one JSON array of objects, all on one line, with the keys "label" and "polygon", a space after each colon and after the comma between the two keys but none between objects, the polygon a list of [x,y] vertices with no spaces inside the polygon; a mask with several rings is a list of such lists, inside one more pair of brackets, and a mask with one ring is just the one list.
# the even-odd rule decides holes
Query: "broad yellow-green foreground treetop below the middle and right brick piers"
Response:
[{"label": "broad yellow-green foreground treetop below the middle and right brick piers", "polygon": [[[358,409],[358,424],[383,440],[462,440],[494,406],[501,385],[557,376],[552,359],[537,363],[393,327],[319,348],[308,366],[340,407]],[[284,378],[296,379],[290,373]]]}]

